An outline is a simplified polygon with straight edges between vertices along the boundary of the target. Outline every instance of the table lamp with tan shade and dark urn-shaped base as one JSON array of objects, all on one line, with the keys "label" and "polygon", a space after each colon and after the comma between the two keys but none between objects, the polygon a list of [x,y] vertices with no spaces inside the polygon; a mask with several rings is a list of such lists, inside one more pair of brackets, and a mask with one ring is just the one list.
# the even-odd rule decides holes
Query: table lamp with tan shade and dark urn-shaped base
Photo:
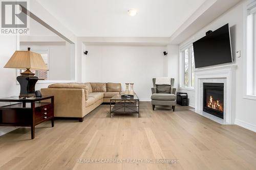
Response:
[{"label": "table lamp with tan shade and dark urn-shaped base", "polygon": [[48,70],[41,55],[31,52],[30,48],[28,48],[28,51],[15,51],[4,68],[27,69],[17,77],[20,85],[19,98],[31,98],[35,96],[35,84],[38,77],[35,77],[35,74],[30,69]]}]

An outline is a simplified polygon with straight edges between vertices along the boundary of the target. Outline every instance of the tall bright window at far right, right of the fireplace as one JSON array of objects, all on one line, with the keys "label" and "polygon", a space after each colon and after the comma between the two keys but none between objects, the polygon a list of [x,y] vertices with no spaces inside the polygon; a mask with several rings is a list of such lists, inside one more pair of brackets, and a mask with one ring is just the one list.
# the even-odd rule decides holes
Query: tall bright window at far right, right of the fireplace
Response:
[{"label": "tall bright window at far right, right of the fireplace", "polygon": [[245,11],[245,93],[256,99],[256,1],[251,1]]}]

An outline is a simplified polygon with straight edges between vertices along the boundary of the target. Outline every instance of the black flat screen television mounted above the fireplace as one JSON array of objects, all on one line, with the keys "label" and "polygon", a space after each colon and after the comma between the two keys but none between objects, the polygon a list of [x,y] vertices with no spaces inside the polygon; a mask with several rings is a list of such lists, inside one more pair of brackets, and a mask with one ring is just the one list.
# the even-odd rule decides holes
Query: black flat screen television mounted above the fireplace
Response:
[{"label": "black flat screen television mounted above the fireplace", "polygon": [[233,62],[228,23],[193,43],[196,68]]}]

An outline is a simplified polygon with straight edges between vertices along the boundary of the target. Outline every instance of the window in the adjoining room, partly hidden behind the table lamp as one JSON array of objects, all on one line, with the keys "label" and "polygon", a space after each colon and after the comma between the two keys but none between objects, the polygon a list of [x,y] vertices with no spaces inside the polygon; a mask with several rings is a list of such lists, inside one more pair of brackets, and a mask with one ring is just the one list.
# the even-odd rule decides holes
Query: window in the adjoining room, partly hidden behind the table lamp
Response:
[{"label": "window in the adjoining room, partly hidden behind the table lamp", "polygon": [[[22,50],[27,51],[27,48],[23,48]],[[31,48],[30,51],[40,54],[41,57],[42,57],[42,60],[44,60],[45,64],[49,68],[49,52],[48,52],[48,49],[33,49],[33,48]],[[25,70],[20,70],[20,72],[23,72],[23,71],[25,71]],[[48,70],[31,70],[31,72],[33,72],[35,74],[35,76],[38,77],[38,79],[48,80],[48,78],[49,78],[49,71]]]}]

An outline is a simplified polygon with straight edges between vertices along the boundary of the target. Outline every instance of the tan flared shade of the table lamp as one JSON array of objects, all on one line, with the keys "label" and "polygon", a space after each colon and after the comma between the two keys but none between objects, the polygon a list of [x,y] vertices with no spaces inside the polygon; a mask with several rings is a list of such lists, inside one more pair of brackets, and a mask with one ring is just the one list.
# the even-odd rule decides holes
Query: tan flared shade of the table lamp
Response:
[{"label": "tan flared shade of the table lamp", "polygon": [[31,51],[15,51],[5,68],[48,70],[41,55]]}]

